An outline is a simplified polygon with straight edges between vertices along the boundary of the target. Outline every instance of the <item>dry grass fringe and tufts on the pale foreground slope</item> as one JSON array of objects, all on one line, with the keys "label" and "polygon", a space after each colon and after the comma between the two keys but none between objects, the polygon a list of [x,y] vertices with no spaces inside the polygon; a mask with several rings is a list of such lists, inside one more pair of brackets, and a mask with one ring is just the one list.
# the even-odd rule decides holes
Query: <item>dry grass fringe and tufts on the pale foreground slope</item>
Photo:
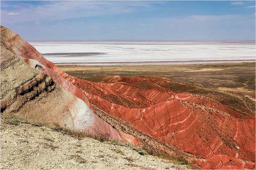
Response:
[{"label": "dry grass fringe and tufts on the pale foreground slope", "polygon": [[[163,163],[169,163],[169,164],[173,164],[175,166],[182,166],[182,168],[189,168],[192,169],[192,167],[189,165],[189,162],[185,159],[182,158],[177,158],[165,153],[157,153],[154,152],[153,150],[147,150],[146,148],[142,148],[140,146],[134,146],[130,143],[125,143],[125,142],[119,142],[117,140],[113,140],[113,139],[109,139],[109,136],[106,135],[91,135],[86,133],[85,131],[79,131],[79,130],[70,130],[67,128],[63,128],[61,126],[59,126],[59,124],[54,124],[53,126],[49,126],[46,124],[41,124],[41,123],[36,123],[36,122],[32,122],[29,121],[27,119],[24,119],[20,116],[17,116],[15,114],[1,114],[1,123],[4,125],[11,125],[11,126],[23,126],[23,125],[30,125],[33,127],[43,127],[43,128],[48,128],[50,130],[52,130],[53,132],[58,132],[62,135],[67,135],[70,136],[71,138],[77,139],[78,141],[82,141],[84,139],[88,139],[88,138],[92,138],[92,139],[96,139],[98,142],[104,144],[104,145],[109,145],[109,146],[115,146],[115,148],[111,149],[113,152],[117,153],[118,155],[123,155],[122,159],[125,159],[129,162],[134,162],[136,158],[134,158],[132,155],[128,155],[127,152],[125,152],[125,150],[129,150],[129,152],[135,152],[138,155],[141,156],[155,156],[156,159],[162,160]],[[1,126],[1,132],[3,131],[2,126]],[[29,143],[28,139],[22,139],[23,143]],[[53,150],[56,151],[58,149],[61,148],[61,146],[58,146],[56,144],[56,140],[47,136],[46,134],[43,134],[41,137],[41,141],[39,142],[40,145],[42,146],[42,148],[47,149],[47,150]],[[78,143],[75,144],[76,147],[81,147],[82,144]],[[122,148],[127,148],[127,149],[121,149],[119,147]],[[87,160],[85,160],[83,157],[81,157],[79,154],[84,153],[82,150],[78,150],[76,151],[74,154],[72,155],[68,155],[67,159],[69,160],[75,160],[78,163],[86,163]],[[115,160],[115,159],[120,159],[120,156],[112,156],[111,159]],[[102,159],[105,158],[104,154],[97,154],[95,156],[96,158]],[[2,161],[2,160],[1,160]],[[94,161],[95,163],[97,161]],[[127,163],[127,166],[131,166],[131,164]],[[134,166],[132,166],[134,167]],[[139,167],[143,169],[143,166],[135,166],[135,167]],[[147,167],[144,167],[147,169]],[[148,167],[150,169],[150,167]]]}]

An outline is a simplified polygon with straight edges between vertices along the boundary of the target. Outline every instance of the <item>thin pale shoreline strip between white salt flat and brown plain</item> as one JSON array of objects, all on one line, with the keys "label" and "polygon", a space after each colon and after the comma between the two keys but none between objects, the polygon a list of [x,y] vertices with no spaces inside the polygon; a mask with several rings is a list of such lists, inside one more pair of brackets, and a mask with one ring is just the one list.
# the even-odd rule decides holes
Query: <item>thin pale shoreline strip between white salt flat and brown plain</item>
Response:
[{"label": "thin pale shoreline strip between white salt flat and brown plain", "polygon": [[145,62],[92,62],[92,63],[54,63],[56,65],[174,65],[174,64],[211,64],[211,63],[252,63],[255,60],[191,60],[191,61],[145,61]]}]

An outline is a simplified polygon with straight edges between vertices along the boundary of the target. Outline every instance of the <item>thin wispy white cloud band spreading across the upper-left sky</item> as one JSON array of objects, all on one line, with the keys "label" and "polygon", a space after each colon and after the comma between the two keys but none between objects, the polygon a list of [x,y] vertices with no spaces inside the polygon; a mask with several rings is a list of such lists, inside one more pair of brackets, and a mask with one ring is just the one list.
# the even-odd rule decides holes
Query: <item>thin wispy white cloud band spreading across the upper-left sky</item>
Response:
[{"label": "thin wispy white cloud band spreading across the upper-left sky", "polygon": [[[154,10],[161,1],[49,1],[41,5],[15,4],[14,11],[1,9],[2,23],[25,23],[35,21],[57,21],[71,18],[93,17],[101,15],[128,14],[136,11]],[[1,2],[1,6],[8,6]],[[19,15],[22,14],[22,15]],[[72,15],[75,14],[75,15]],[[8,17],[16,15],[16,17]]]}]

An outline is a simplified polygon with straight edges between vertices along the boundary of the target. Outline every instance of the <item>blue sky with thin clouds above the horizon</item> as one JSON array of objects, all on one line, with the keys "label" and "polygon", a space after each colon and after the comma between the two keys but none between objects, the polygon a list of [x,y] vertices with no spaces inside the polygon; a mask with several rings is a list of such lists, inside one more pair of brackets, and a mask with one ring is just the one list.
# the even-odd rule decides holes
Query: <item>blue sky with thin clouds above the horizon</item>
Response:
[{"label": "blue sky with thin clouds above the horizon", "polygon": [[255,1],[1,1],[26,40],[254,40]]}]

